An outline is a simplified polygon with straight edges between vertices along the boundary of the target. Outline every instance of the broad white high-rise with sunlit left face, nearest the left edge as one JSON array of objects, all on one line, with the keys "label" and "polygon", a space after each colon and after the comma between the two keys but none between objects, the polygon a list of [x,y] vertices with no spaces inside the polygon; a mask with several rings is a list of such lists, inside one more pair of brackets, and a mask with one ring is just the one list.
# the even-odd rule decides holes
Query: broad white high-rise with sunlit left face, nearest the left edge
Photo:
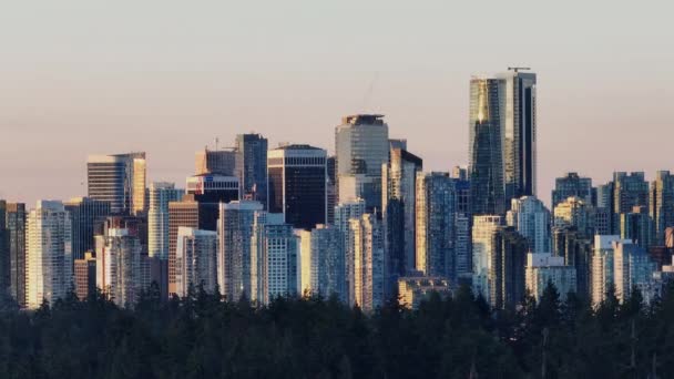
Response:
[{"label": "broad white high-rise with sunlit left face, nearest the left edge", "polygon": [[39,201],[28,216],[27,306],[64,298],[72,285],[72,232],[63,203]]}]

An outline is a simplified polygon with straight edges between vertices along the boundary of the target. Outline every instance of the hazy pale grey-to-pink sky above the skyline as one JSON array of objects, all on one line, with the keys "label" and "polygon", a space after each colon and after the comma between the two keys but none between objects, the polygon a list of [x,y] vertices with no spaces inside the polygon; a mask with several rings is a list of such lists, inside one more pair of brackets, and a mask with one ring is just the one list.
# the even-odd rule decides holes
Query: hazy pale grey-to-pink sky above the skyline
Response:
[{"label": "hazy pale grey-to-pink sky above the skyline", "polygon": [[674,170],[670,2],[0,1],[0,197],[85,193],[92,153],[194,152],[259,132],[334,150],[386,115],[425,168],[467,164],[471,74],[538,73],[539,196],[579,171]]}]

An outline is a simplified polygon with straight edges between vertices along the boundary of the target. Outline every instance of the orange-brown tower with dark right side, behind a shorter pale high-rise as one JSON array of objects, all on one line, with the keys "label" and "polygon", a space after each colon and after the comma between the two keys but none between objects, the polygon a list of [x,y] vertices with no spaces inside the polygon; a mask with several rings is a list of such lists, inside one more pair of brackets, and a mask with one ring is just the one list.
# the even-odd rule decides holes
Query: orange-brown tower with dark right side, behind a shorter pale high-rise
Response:
[{"label": "orange-brown tower with dark right side, behind a shorter pale high-rise", "polygon": [[168,203],[168,294],[176,294],[177,229],[184,226],[200,231],[216,231],[217,217],[217,203],[200,203],[194,199],[194,195],[184,195],[182,201]]}]

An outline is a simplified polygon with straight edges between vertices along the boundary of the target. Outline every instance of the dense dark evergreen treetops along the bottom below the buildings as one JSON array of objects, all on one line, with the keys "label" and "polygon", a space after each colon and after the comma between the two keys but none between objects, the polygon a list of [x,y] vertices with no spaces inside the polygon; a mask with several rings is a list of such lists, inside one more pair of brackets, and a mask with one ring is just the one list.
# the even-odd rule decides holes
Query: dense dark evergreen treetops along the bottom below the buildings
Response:
[{"label": "dense dark evergreen treetops along the bottom below the buildings", "polygon": [[553,287],[491,311],[468,288],[367,316],[336,299],[264,308],[195,290],[134,310],[100,294],[0,316],[2,378],[658,378],[674,376],[674,290],[595,311]]}]

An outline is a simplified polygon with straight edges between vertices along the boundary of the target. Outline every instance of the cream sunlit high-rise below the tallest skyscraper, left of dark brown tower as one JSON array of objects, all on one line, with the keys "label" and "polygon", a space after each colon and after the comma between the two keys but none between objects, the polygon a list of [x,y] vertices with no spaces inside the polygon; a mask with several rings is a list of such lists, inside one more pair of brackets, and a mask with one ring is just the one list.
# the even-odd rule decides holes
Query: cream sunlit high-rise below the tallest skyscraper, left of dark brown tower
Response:
[{"label": "cream sunlit high-rise below the tallest skyscraper, left of dark brown tower", "polygon": [[487,301],[490,298],[489,274],[496,254],[496,235],[501,227],[501,216],[473,216],[472,222],[472,286]]}]

